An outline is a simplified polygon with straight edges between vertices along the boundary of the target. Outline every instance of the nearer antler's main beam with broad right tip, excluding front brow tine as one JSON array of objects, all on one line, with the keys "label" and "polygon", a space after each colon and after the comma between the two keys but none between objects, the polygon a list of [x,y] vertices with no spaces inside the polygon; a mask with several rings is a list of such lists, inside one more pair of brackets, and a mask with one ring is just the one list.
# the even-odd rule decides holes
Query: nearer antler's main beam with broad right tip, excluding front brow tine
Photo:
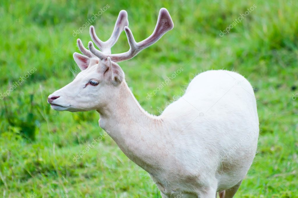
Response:
[{"label": "nearer antler's main beam with broad right tip, excluding front brow tine", "polygon": [[[142,49],[145,49],[146,47],[149,47],[150,45],[152,45],[156,41],[158,41],[167,31],[172,30],[173,27],[174,27],[174,24],[173,24],[173,21],[172,21],[172,18],[170,16],[169,12],[167,11],[167,9],[162,8],[159,10],[159,15],[158,15],[155,29],[154,29],[153,33],[148,38],[136,43],[136,41],[134,40],[134,36],[131,33],[131,30],[128,27],[124,27],[130,49],[124,53],[111,54],[108,56],[114,62],[131,59],[135,55],[137,55]],[[93,53],[92,50],[91,50],[91,52]],[[98,54],[98,52],[97,52],[97,54]],[[105,57],[107,57],[107,56],[105,56]]]}]

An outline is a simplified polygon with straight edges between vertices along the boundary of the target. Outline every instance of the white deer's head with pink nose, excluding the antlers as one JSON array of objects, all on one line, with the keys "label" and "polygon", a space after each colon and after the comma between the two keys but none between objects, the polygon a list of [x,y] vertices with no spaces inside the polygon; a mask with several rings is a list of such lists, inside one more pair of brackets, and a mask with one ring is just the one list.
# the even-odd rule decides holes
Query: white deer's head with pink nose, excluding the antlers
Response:
[{"label": "white deer's head with pink nose, excluding the antlers", "polygon": [[122,69],[114,62],[110,66],[107,61],[87,59],[88,61],[87,67],[77,62],[82,71],[71,83],[49,95],[48,103],[52,109],[70,112],[100,110],[115,98],[119,85],[124,81]]}]

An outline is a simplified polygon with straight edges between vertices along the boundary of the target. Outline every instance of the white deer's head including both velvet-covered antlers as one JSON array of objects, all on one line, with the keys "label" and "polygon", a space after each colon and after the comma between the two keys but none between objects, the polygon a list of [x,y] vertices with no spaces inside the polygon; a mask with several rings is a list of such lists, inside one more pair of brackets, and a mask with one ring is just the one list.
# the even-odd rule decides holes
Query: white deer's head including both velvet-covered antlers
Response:
[{"label": "white deer's head including both velvet-covered antlers", "polygon": [[[77,45],[84,54],[75,52],[73,57],[82,70],[76,78],[55,91],[48,97],[48,103],[57,111],[89,111],[104,108],[113,102],[114,95],[119,92],[119,85],[125,83],[124,72],[117,64],[133,58],[142,49],[159,40],[167,31],[173,29],[173,21],[165,8],[160,9],[156,27],[153,33],[141,42],[136,42],[131,30],[127,27],[128,19],[125,10],[121,10],[111,37],[103,42],[90,26],[92,41],[100,49],[96,49],[90,41],[86,49],[82,41],[77,39]],[[111,47],[117,42],[119,35],[125,31],[130,49],[120,54],[111,54]]]}]

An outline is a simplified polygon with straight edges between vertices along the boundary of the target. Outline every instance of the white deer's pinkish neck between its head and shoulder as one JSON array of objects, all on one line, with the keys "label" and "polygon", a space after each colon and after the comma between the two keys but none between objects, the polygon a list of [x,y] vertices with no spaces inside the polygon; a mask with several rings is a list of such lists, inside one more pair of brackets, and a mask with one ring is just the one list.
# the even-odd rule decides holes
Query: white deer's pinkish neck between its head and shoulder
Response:
[{"label": "white deer's pinkish neck between its head and shoulder", "polygon": [[113,103],[97,110],[99,125],[128,158],[150,173],[162,161],[159,152],[167,137],[164,121],[142,109],[125,82],[120,86]]}]

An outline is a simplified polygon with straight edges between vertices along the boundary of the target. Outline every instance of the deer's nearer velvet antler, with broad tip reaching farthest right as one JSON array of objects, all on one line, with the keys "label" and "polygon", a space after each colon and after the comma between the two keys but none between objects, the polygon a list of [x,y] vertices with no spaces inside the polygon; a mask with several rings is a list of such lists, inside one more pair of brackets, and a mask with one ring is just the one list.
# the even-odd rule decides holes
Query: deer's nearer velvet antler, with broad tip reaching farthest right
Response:
[{"label": "deer's nearer velvet antler, with broad tip reaching farthest right", "polygon": [[[120,16],[120,14],[119,14],[119,16]],[[119,17],[118,17],[118,19],[119,19]],[[116,23],[116,25],[117,25],[117,23]],[[115,28],[116,28],[116,25],[115,25]],[[124,61],[124,60],[128,60],[128,59],[133,58],[142,49],[145,49],[146,47],[149,47],[150,45],[154,44],[167,31],[172,30],[173,27],[174,27],[174,24],[173,24],[173,21],[172,21],[172,18],[170,16],[169,12],[167,11],[167,9],[162,8],[162,9],[159,10],[157,23],[156,23],[156,26],[155,26],[155,29],[154,29],[153,33],[143,41],[140,41],[140,42],[137,43],[134,40],[134,36],[131,33],[131,30],[127,26],[124,27],[124,30],[125,30],[125,33],[126,33],[126,36],[127,36],[127,39],[128,39],[128,44],[130,46],[130,49],[127,52],[120,53],[120,54],[108,54],[107,52],[110,53],[111,50],[109,50],[109,51],[106,50],[105,51],[105,48],[102,47],[102,43],[105,43],[105,42],[100,43],[100,45],[98,45],[97,42],[95,42],[98,39],[97,37],[93,37],[95,35],[95,32],[94,32],[94,35],[91,35],[91,38],[92,38],[93,41],[95,40],[94,43],[102,51],[99,51],[98,49],[96,49],[91,41],[89,41],[89,43],[88,43],[88,48],[92,52],[92,54],[94,54],[95,56],[97,56],[101,60],[105,60],[108,57],[110,57],[111,60],[114,61],[114,62]],[[93,26],[92,26],[92,33],[93,33],[93,31],[94,31],[94,29],[93,29]],[[114,31],[115,31],[115,29],[114,29]],[[91,27],[90,27],[90,34],[91,34]],[[113,37],[113,35],[111,36],[111,38],[112,37]],[[118,37],[119,37],[119,35],[117,36],[117,38]],[[94,38],[97,38],[97,39],[94,39]],[[106,42],[108,43],[108,41],[106,41]],[[116,41],[117,41],[117,39],[116,39]],[[112,43],[112,45],[114,45],[115,42],[111,42],[111,43]],[[108,46],[110,46],[110,45],[108,45]]]}]

